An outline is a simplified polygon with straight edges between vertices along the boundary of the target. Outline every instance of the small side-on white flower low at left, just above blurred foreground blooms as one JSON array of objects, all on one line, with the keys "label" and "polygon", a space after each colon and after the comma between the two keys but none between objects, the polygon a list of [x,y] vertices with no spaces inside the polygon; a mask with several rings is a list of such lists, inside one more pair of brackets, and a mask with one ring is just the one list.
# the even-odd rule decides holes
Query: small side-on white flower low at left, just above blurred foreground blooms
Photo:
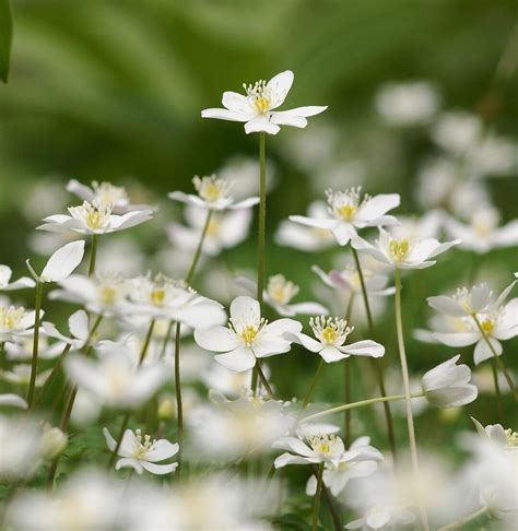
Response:
[{"label": "small side-on white flower low at left, just above blurred foreground blooms", "polygon": [[[108,448],[114,451],[117,447],[116,440],[111,437],[107,428],[103,429]],[[169,459],[178,453],[180,447],[177,444],[172,444],[166,439],[151,439],[150,435],[144,435],[140,429],[134,433],[127,429],[122,436],[120,448],[117,455],[121,458],[115,464],[115,469],[119,470],[125,467],[130,467],[141,474],[143,470],[152,474],[169,474],[175,471],[178,463],[156,464],[156,461]]]}]

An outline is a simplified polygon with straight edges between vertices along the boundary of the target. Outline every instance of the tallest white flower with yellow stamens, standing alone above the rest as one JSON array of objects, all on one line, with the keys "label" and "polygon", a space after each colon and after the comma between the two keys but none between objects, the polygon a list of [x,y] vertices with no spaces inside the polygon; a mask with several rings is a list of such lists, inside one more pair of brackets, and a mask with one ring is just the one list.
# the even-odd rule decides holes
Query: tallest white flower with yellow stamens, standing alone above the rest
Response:
[{"label": "tallest white flower with yellow stamens, standing alone above the rest", "polygon": [[327,106],[297,107],[291,110],[274,110],[280,107],[293,84],[293,72],[285,70],[273,76],[268,83],[258,81],[254,85],[244,84],[246,95],[236,92],[224,92],[224,109],[204,109],[202,118],[245,122],[245,132],[267,132],[276,134],[280,126],[305,128],[306,118],[319,115]]}]

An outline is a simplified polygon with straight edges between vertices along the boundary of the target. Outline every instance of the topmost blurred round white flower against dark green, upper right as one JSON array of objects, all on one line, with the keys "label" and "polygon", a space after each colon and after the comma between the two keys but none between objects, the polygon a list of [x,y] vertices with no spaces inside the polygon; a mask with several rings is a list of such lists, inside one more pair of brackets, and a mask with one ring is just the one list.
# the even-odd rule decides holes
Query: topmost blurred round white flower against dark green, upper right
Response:
[{"label": "topmost blurred round white flower against dark green, upper right", "polygon": [[426,81],[387,83],[376,94],[376,109],[392,126],[426,122],[437,111],[439,97]]}]

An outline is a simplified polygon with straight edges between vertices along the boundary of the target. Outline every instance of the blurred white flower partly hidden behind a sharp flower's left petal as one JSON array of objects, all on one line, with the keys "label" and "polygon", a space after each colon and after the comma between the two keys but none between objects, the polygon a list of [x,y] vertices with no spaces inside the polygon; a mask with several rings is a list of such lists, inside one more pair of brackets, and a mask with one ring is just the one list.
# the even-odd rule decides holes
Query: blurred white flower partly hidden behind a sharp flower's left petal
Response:
[{"label": "blurred white flower partly hidden behind a sharp flower's left petal", "polygon": [[[329,220],[329,211],[323,201],[314,201],[308,206],[307,213],[309,219]],[[315,252],[333,247],[335,239],[327,228],[283,221],[275,233],[275,243],[284,247]]]}]

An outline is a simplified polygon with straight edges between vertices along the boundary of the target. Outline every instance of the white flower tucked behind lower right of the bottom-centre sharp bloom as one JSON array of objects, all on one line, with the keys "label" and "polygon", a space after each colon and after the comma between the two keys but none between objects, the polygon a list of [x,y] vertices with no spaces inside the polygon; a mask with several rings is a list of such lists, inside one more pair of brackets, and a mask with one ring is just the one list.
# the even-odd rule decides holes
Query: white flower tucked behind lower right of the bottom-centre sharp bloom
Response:
[{"label": "white flower tucked behind lower right of the bottom-centre sharp bloom", "polygon": [[[322,480],[333,496],[339,496],[351,480],[374,473],[384,455],[370,446],[370,437],[358,437],[343,452],[338,467],[326,463]],[[311,475],[306,484],[306,494],[315,496],[317,479]]]}]

